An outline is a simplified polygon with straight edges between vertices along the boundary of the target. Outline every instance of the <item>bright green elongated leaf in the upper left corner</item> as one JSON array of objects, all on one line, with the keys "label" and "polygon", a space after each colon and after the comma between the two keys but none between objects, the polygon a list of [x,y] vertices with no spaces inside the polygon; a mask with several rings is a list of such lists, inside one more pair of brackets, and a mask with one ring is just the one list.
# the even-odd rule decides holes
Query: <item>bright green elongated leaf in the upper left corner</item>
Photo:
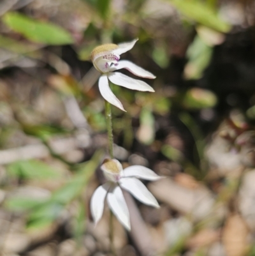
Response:
[{"label": "bright green elongated leaf in the upper left corner", "polygon": [[21,13],[8,12],[3,16],[3,22],[25,38],[37,43],[48,45],[66,45],[73,43],[68,31],[50,22],[40,22]]}]

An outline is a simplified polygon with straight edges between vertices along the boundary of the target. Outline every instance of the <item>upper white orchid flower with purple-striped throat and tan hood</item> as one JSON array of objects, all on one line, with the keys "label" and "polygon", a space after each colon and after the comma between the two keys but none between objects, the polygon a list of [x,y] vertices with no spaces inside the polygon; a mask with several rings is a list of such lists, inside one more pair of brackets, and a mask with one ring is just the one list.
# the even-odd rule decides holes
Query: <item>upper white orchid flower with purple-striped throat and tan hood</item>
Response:
[{"label": "upper white orchid flower with purple-striped throat and tan hood", "polygon": [[132,79],[127,75],[115,72],[115,70],[126,68],[126,70],[134,75],[137,75],[138,77],[143,77],[146,79],[156,78],[155,75],[147,70],[144,70],[143,68],[140,68],[140,66],[136,66],[136,64],[132,63],[131,61],[120,61],[120,54],[131,50],[137,40],[138,39],[128,43],[120,43],[119,45],[115,45],[113,43],[100,45],[91,52],[91,61],[96,70],[102,74],[98,82],[100,93],[107,102],[110,102],[112,105],[115,105],[123,111],[126,110],[124,110],[122,103],[120,103],[120,101],[112,93],[108,80],[117,86],[126,87],[128,89],[154,92],[154,89],[142,80]]}]

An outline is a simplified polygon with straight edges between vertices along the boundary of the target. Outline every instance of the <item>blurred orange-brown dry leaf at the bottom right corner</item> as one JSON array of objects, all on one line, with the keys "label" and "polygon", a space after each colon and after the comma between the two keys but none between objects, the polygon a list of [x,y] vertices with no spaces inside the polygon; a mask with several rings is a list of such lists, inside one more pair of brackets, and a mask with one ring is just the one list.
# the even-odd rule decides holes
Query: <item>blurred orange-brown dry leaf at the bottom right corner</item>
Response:
[{"label": "blurred orange-brown dry leaf at the bottom right corner", "polygon": [[244,256],[247,253],[249,230],[240,215],[231,215],[223,229],[222,242],[227,256]]}]

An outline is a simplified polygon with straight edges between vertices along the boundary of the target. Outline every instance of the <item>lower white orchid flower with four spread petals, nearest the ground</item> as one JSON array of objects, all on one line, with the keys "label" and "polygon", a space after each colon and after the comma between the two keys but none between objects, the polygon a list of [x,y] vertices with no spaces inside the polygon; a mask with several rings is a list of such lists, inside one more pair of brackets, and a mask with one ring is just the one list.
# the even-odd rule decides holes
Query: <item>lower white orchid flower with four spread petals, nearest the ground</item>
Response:
[{"label": "lower white orchid flower with four spread petals, nearest the ground", "polygon": [[142,181],[137,179],[137,177],[147,179],[148,181],[161,179],[161,177],[152,170],[142,165],[133,165],[123,170],[121,163],[115,159],[106,159],[101,169],[107,181],[96,189],[91,198],[91,213],[95,223],[98,223],[103,215],[106,197],[108,206],[119,222],[122,223],[126,229],[131,229],[128,206],[121,188],[127,190],[143,204],[156,208],[159,207],[152,193],[147,190]]}]

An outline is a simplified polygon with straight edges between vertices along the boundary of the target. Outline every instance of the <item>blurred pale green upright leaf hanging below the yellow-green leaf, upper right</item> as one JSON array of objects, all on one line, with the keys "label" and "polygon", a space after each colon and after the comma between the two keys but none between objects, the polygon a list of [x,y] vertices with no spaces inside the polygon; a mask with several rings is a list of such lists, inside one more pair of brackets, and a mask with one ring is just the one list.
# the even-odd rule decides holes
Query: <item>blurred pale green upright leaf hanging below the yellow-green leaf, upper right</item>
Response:
[{"label": "blurred pale green upright leaf hanging below the yellow-green leaf, upper right", "polygon": [[187,62],[184,75],[186,79],[200,79],[212,57],[212,47],[207,45],[200,36],[196,36],[187,49]]}]

